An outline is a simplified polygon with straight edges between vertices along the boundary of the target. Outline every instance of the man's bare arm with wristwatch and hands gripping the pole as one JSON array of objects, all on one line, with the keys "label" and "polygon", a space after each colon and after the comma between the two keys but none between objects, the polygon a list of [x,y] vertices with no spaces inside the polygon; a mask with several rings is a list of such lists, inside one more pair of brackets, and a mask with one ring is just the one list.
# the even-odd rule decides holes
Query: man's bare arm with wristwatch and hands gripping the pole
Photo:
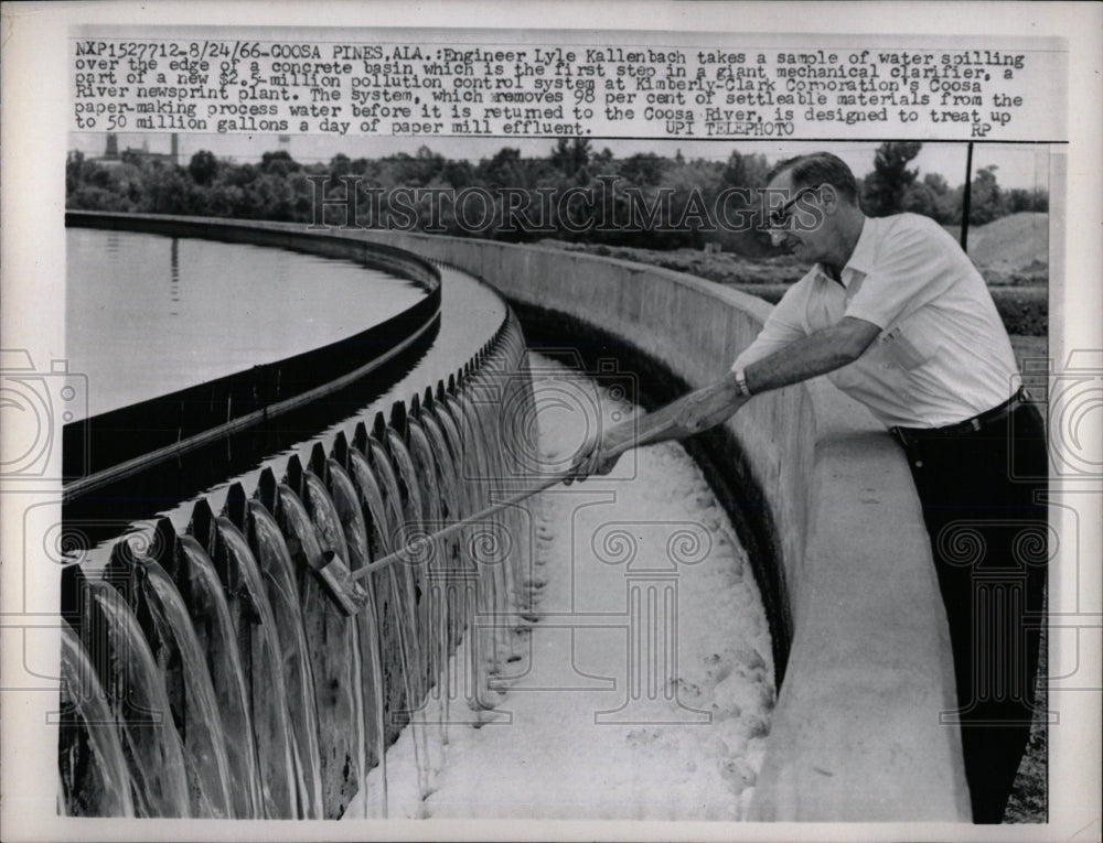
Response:
[{"label": "man's bare arm with wristwatch and hands gripping the pole", "polygon": [[[743,375],[752,395],[779,389],[857,360],[877,338],[880,327],[846,316],[831,327],[791,343],[750,364]],[[749,400],[740,392],[735,372],[655,410],[606,431],[574,466],[575,477],[608,474],[625,451],[684,439],[731,417]]]}]

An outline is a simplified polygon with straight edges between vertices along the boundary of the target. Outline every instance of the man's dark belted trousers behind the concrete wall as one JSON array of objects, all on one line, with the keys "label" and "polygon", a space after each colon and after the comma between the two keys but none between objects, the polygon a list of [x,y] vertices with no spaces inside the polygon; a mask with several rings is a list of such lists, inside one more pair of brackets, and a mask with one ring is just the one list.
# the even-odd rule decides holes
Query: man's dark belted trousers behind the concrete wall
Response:
[{"label": "man's dark belted trousers behind the concrete wall", "polygon": [[899,431],[950,622],[973,821],[998,823],[1030,736],[1045,622],[1046,432],[1022,403],[979,430]]}]

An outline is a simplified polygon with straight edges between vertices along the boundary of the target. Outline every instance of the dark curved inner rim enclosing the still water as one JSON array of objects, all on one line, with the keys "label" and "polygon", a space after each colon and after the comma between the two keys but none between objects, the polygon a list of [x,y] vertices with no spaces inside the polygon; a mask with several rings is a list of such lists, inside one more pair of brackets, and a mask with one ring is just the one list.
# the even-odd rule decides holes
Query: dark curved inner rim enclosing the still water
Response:
[{"label": "dark curved inner rim enclosing the still water", "polygon": [[[427,347],[439,325],[439,270],[410,252],[347,234],[334,236],[286,223],[75,210],[66,212],[65,224],[342,258],[414,281],[426,291],[401,312],[350,336],[66,424],[63,474],[67,501],[333,395],[350,383],[381,377],[403,352]],[[370,285],[365,285],[365,295],[371,295]],[[120,431],[126,434],[120,435]]]}]

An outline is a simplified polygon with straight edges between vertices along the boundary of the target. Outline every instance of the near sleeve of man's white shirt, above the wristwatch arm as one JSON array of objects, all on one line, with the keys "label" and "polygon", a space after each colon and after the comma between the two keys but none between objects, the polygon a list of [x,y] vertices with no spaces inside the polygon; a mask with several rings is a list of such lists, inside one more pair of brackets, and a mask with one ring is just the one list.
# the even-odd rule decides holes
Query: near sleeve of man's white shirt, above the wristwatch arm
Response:
[{"label": "near sleeve of man's white shirt, above the wristwatch arm", "polygon": [[885,331],[945,291],[952,278],[947,270],[960,249],[938,224],[928,221],[902,218],[893,226],[844,316]]}]

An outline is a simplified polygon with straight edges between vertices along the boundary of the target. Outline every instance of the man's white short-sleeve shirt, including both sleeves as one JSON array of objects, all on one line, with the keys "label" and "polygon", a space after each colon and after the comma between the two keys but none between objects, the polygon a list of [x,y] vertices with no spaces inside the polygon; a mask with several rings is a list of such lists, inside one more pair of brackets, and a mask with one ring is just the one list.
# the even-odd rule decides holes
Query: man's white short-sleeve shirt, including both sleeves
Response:
[{"label": "man's white short-sleeve shirt, including both sleeves", "polygon": [[881,333],[861,357],[827,377],[886,426],[954,424],[1018,389],[1015,354],[992,294],[934,220],[867,217],[840,280],[813,267],[785,292],[732,369],[855,316]]}]

